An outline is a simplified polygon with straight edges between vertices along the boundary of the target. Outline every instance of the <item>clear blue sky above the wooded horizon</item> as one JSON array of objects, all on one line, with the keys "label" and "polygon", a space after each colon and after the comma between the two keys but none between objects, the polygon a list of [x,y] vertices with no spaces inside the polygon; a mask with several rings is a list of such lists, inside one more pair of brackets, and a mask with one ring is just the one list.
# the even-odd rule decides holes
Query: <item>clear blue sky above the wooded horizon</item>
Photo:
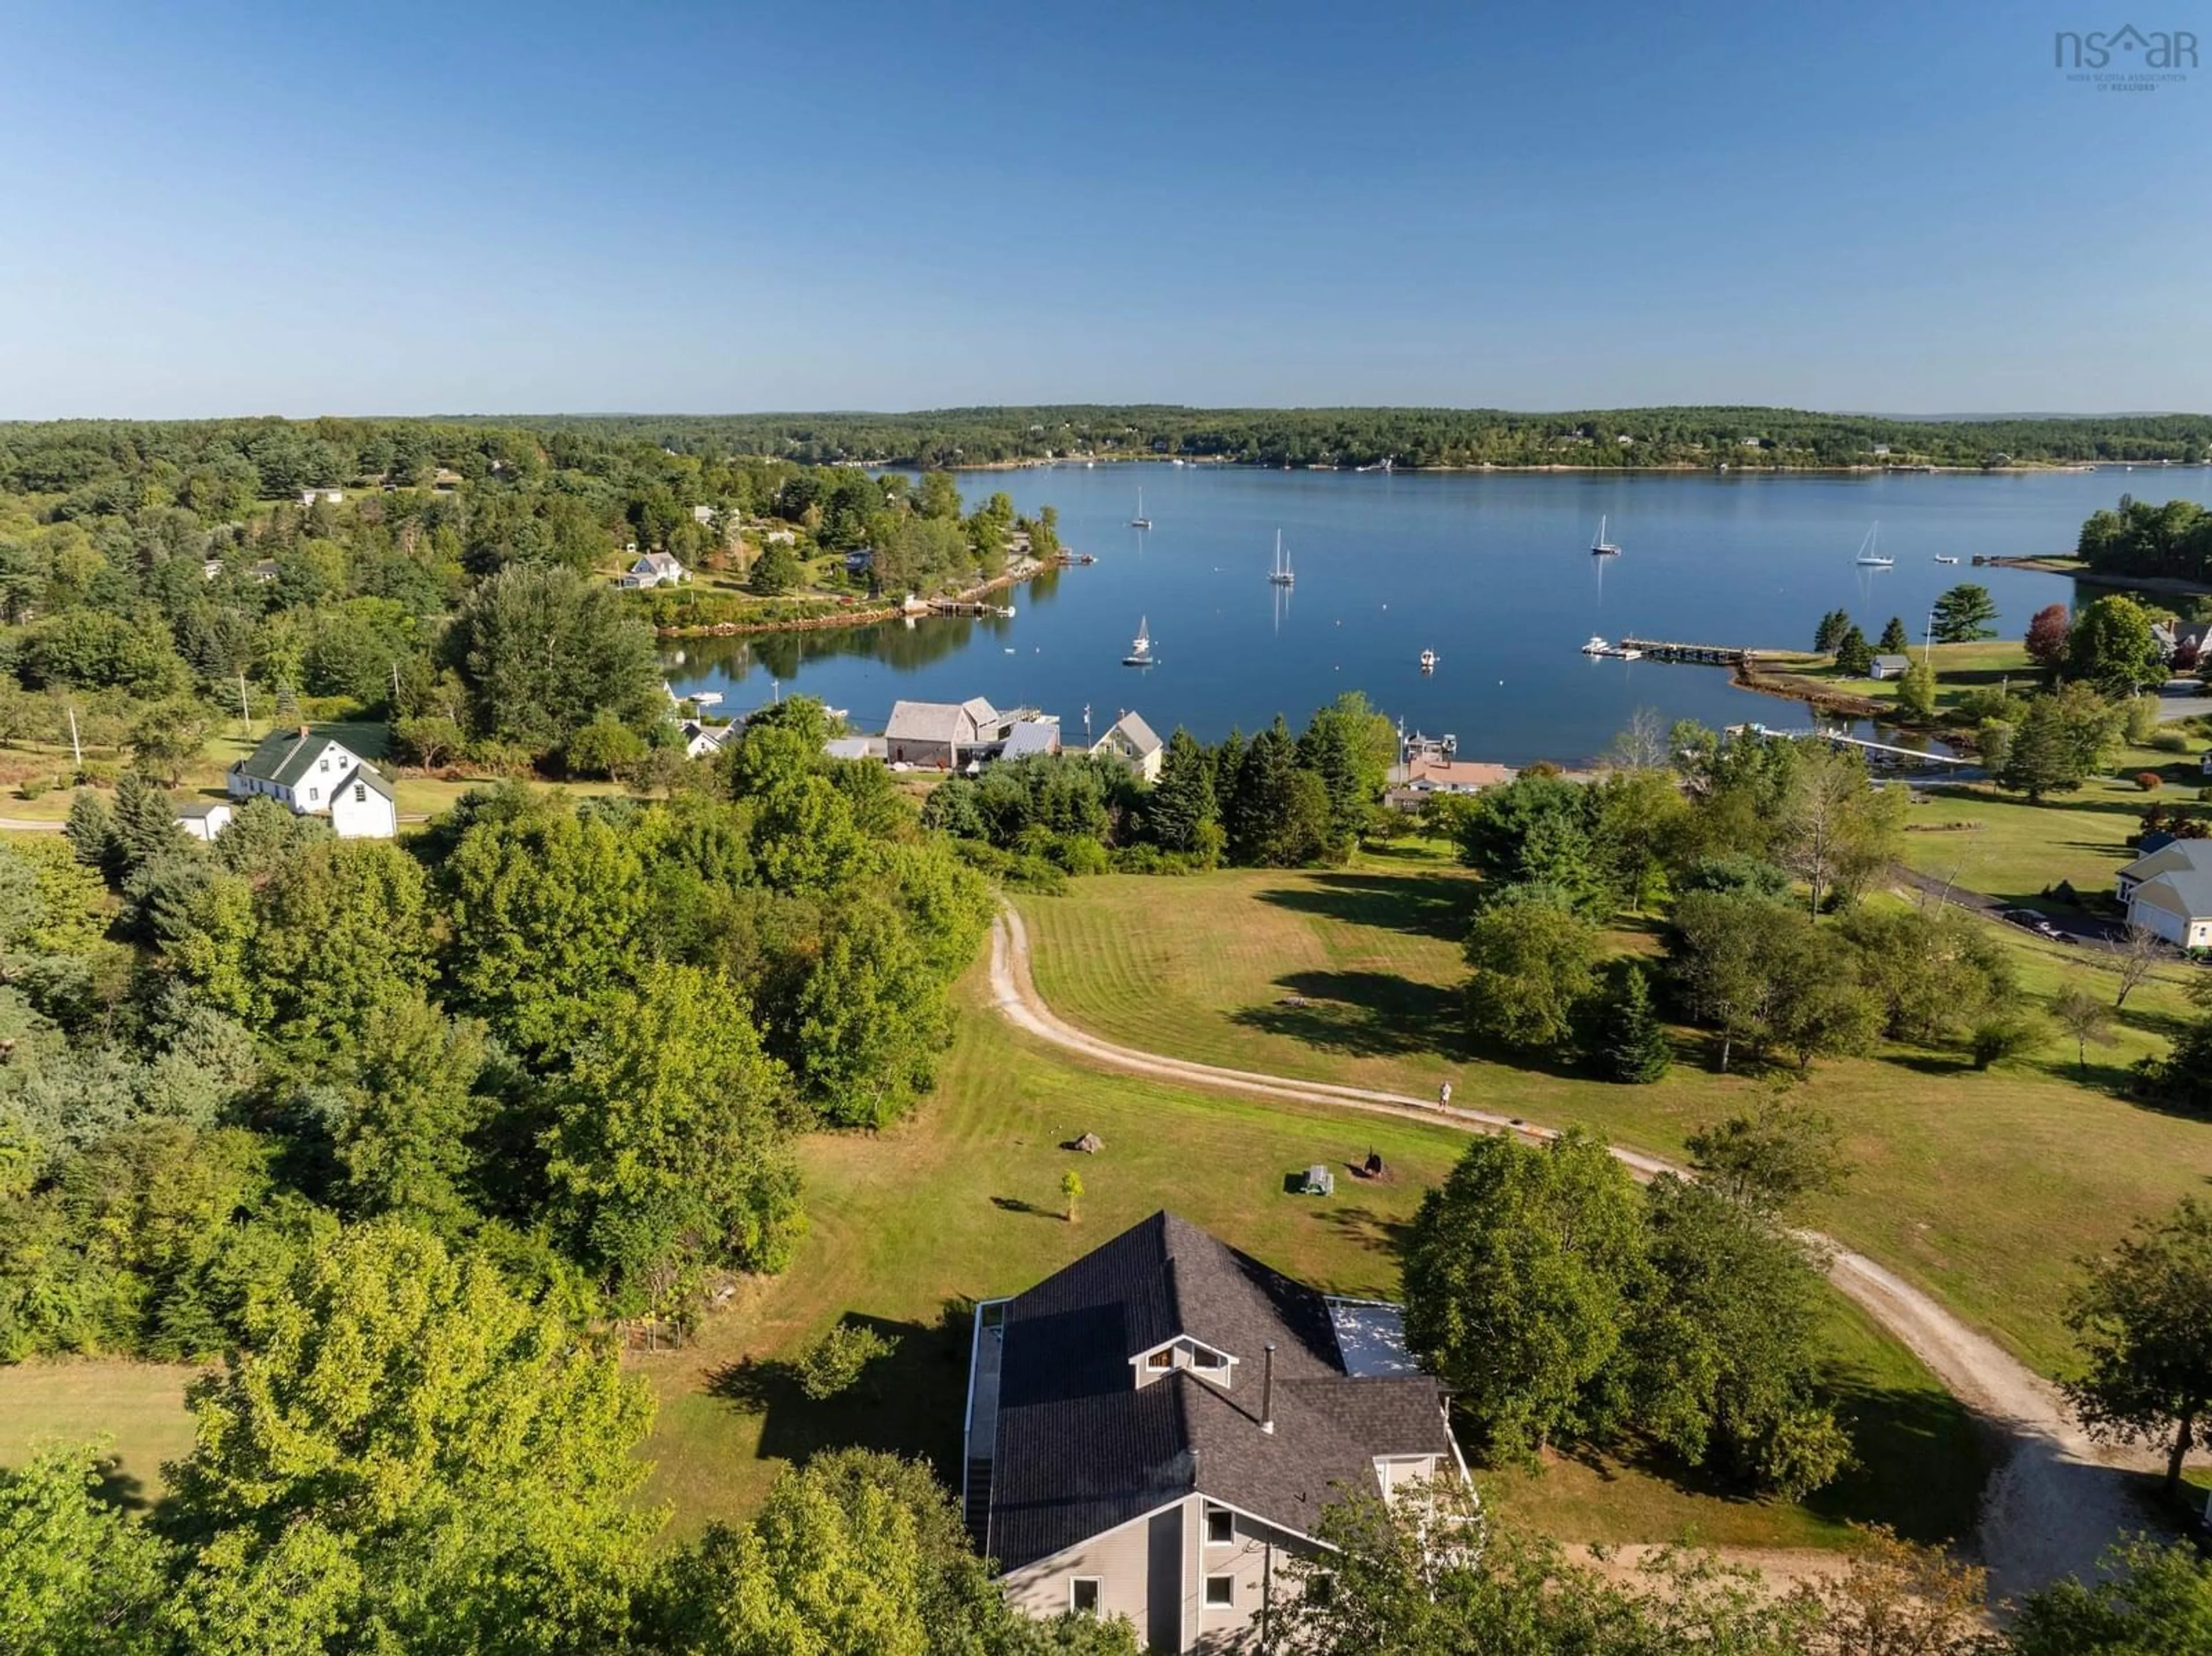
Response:
[{"label": "clear blue sky above the wooded horizon", "polygon": [[2205,409],[2128,4],[0,0],[0,418]]}]

